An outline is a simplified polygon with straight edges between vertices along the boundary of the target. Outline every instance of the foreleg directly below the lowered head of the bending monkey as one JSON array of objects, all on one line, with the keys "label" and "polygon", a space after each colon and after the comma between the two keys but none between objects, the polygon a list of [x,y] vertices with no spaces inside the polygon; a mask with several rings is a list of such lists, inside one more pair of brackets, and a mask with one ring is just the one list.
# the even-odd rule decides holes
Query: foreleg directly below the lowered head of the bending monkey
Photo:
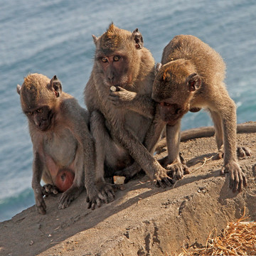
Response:
[{"label": "foreleg directly below the lowered head of the bending monkey", "polygon": [[189,174],[186,164],[181,162],[179,144],[181,141],[181,119],[174,125],[166,125],[166,142],[168,156],[165,161],[166,169],[170,171],[172,178],[180,179],[183,174]]}]

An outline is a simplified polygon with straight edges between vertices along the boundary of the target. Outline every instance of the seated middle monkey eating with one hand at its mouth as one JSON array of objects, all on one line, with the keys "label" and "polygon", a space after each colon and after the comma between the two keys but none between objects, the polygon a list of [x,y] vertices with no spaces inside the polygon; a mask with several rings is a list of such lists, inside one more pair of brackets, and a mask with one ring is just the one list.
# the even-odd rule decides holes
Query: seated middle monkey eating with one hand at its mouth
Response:
[{"label": "seated middle monkey eating with one hand at its mouth", "polygon": [[149,152],[156,144],[146,136],[155,111],[154,58],[143,47],[142,34],[111,23],[102,36],[92,37],[95,62],[85,87],[85,104],[95,138],[97,187],[111,201],[114,193],[104,175],[119,171],[130,178],[140,169],[156,186],[171,186],[166,170]]}]

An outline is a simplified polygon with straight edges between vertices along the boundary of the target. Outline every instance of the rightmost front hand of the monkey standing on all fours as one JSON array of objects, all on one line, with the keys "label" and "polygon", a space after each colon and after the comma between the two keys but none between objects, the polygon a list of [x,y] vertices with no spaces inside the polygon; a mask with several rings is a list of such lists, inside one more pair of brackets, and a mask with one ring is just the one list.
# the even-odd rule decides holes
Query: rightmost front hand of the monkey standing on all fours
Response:
[{"label": "rightmost front hand of the monkey standing on all fours", "polygon": [[225,164],[220,170],[220,174],[230,175],[230,189],[232,189],[234,193],[236,191],[241,192],[242,186],[247,186],[245,174],[236,161],[230,161],[228,164]]}]

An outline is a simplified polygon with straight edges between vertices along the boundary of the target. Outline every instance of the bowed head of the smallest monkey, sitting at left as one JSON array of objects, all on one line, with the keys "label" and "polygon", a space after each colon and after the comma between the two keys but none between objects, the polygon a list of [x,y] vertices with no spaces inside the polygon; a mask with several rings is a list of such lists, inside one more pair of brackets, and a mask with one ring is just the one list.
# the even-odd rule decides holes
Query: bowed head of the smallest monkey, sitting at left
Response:
[{"label": "bowed head of the smallest monkey, sitting at left", "polygon": [[50,129],[62,86],[56,76],[51,80],[45,75],[31,74],[17,85],[21,96],[21,107],[29,122],[40,131]]}]

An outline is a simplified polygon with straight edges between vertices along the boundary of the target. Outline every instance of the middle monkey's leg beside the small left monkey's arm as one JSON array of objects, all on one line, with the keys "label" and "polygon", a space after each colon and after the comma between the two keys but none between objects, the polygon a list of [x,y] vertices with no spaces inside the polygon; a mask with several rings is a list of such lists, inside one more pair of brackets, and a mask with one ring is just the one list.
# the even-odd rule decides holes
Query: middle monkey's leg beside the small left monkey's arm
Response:
[{"label": "middle monkey's leg beside the small left monkey's arm", "polygon": [[[95,181],[96,186],[99,189],[102,196],[105,198],[105,202],[109,203],[114,200],[114,186],[106,183],[104,178],[104,162],[107,154],[107,146],[110,146],[113,142],[110,139],[110,135],[105,127],[105,118],[98,112],[92,112],[90,119],[90,126],[92,137],[95,138]],[[110,151],[110,154],[114,155],[114,151]],[[113,160],[114,161],[114,160]]]}]

